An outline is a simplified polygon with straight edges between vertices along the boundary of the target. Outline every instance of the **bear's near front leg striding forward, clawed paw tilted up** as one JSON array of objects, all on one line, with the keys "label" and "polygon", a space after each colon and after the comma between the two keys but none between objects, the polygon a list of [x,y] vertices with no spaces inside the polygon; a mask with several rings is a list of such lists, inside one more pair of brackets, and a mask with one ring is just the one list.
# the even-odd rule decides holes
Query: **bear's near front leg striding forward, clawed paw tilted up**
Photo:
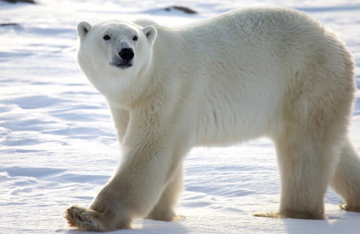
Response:
[{"label": "bear's near front leg striding forward, clawed paw tilted up", "polygon": [[101,232],[129,228],[133,218],[146,217],[151,212],[172,179],[181,155],[173,153],[174,141],[169,134],[156,128],[157,131],[134,126],[129,129],[117,172],[88,209],[72,206],[66,211],[70,226]]}]

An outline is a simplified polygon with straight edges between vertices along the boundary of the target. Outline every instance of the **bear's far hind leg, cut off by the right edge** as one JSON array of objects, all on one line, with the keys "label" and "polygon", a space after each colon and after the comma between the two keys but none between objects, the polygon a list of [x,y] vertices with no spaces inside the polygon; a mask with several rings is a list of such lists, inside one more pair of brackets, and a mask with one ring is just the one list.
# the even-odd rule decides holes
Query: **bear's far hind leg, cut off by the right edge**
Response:
[{"label": "bear's far hind leg, cut off by the right edge", "polygon": [[346,205],[340,205],[342,209],[360,212],[360,157],[349,139],[340,151],[331,187],[345,200]]}]

